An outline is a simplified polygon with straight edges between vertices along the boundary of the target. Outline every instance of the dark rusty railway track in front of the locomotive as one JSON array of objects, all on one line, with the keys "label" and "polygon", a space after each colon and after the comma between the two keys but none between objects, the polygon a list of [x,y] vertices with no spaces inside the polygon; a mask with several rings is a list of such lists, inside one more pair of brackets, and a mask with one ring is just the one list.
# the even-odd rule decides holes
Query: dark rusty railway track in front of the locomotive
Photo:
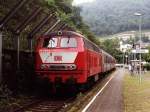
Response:
[{"label": "dark rusty railway track in front of the locomotive", "polygon": [[64,109],[68,103],[73,102],[74,99],[75,97],[37,100],[13,112],[58,112]]}]

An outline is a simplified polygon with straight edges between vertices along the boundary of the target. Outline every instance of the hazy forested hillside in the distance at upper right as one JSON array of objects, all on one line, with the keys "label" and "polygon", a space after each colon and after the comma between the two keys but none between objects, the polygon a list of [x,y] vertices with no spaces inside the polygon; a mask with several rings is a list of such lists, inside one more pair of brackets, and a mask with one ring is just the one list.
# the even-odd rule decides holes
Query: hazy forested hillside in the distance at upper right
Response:
[{"label": "hazy forested hillside in the distance at upper right", "polygon": [[149,0],[96,0],[79,6],[83,20],[97,35],[114,34],[136,30],[138,18],[135,12],[143,14],[143,29],[150,29]]}]

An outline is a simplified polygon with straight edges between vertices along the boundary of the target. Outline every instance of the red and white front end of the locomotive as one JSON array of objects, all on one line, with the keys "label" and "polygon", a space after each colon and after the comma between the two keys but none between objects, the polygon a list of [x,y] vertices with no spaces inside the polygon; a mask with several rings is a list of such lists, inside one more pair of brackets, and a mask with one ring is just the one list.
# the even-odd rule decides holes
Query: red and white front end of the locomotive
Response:
[{"label": "red and white front end of the locomotive", "polygon": [[71,32],[55,32],[42,36],[36,47],[36,72],[55,82],[59,77],[62,82],[83,74],[84,44],[81,35]]}]

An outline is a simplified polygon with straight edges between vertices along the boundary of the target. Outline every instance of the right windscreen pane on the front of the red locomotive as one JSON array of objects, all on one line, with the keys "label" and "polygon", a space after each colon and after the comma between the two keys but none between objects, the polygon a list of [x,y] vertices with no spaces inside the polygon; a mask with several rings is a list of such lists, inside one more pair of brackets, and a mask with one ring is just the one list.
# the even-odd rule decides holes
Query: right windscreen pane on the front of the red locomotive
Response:
[{"label": "right windscreen pane on the front of the red locomotive", "polygon": [[77,47],[77,40],[72,37],[61,38],[60,47]]}]

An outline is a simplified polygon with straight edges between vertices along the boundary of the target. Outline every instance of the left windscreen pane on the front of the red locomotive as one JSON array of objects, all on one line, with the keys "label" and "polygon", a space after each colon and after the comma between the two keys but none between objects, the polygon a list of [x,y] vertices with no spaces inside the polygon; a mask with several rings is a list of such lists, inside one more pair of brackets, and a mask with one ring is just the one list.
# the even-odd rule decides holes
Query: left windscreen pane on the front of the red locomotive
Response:
[{"label": "left windscreen pane on the front of the red locomotive", "polygon": [[57,47],[58,38],[46,38],[44,39],[44,47],[54,48]]}]

